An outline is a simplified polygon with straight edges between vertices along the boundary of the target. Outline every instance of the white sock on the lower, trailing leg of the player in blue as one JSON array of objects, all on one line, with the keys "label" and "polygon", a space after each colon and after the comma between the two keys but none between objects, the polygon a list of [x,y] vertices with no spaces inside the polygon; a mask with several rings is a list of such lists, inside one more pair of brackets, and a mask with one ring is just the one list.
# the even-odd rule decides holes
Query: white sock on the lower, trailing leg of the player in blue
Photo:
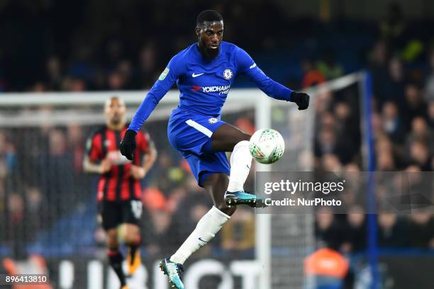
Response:
[{"label": "white sock on the lower, trailing leg of the player in blue", "polygon": [[183,264],[187,258],[216,236],[223,224],[230,219],[218,208],[214,207],[209,210],[204,217],[199,220],[196,229],[191,232],[190,236],[185,240],[178,251],[170,257],[170,261]]}]

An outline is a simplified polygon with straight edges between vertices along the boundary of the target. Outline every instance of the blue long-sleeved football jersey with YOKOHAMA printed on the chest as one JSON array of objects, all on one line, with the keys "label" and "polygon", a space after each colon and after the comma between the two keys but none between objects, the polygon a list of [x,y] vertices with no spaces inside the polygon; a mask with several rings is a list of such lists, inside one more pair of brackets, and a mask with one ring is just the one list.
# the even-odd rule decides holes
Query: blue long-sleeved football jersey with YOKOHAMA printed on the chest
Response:
[{"label": "blue long-sleeved football jersey with YOKOHAMA printed on the chest", "polygon": [[240,47],[222,41],[218,56],[209,60],[201,55],[194,43],[172,57],[138,108],[129,128],[136,132],[140,130],[175,82],[180,91],[180,110],[219,118],[238,74],[246,74],[268,96],[291,101],[292,90],[267,77]]}]

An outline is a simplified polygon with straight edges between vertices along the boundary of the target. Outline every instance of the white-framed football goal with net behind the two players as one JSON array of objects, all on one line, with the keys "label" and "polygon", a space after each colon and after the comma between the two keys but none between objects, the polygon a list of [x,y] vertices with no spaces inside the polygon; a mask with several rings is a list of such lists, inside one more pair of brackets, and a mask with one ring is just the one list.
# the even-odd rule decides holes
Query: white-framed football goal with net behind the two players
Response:
[{"label": "white-framed football goal with net behind the two players", "polygon": [[[257,164],[257,171],[312,171],[316,114],[330,98],[358,101],[362,79],[362,74],[352,74],[311,89],[312,108],[302,112],[258,89],[234,89],[222,119],[248,133],[260,128],[282,133],[284,157],[272,166]],[[104,232],[96,219],[97,176],[82,171],[86,139],[104,125],[104,101],[114,95],[126,101],[130,119],[145,93],[0,98],[0,256],[15,261],[43,256],[56,288],[117,286],[106,266]],[[167,288],[155,262],[182,244],[211,205],[167,141],[167,121],[177,102],[178,92],[170,91],[145,124],[159,155],[145,178],[140,224],[144,266],[138,288]],[[254,177],[252,170],[246,185],[250,191]],[[314,218],[313,213],[255,215],[241,208],[221,234],[187,263],[186,287],[301,288],[304,258],[316,245]],[[251,275],[246,275],[249,271]]]}]

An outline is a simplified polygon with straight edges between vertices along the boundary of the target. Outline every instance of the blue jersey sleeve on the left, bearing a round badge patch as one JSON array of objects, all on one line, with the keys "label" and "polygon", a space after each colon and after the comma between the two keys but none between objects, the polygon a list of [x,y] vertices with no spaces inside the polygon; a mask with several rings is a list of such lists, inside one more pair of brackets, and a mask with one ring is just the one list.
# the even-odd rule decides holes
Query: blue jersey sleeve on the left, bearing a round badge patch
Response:
[{"label": "blue jersey sleeve on the left, bearing a round badge patch", "polygon": [[138,132],[143,123],[149,118],[149,115],[154,111],[155,106],[160,102],[161,98],[167,94],[167,91],[173,86],[179,77],[177,67],[177,56],[167,64],[166,69],[160,74],[155,84],[152,86],[145,99],[140,104],[135,112],[133,120],[131,120],[128,130]]}]

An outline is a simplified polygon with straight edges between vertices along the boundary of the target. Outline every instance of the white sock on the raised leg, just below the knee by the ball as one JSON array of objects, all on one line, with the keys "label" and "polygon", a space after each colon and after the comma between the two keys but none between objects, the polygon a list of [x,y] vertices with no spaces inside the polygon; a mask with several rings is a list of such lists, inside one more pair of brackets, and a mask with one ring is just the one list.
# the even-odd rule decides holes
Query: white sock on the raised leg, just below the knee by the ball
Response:
[{"label": "white sock on the raised leg, just below the knee by the ball", "polygon": [[238,142],[230,155],[229,192],[244,191],[244,183],[252,165],[252,155],[249,152],[249,141]]}]

